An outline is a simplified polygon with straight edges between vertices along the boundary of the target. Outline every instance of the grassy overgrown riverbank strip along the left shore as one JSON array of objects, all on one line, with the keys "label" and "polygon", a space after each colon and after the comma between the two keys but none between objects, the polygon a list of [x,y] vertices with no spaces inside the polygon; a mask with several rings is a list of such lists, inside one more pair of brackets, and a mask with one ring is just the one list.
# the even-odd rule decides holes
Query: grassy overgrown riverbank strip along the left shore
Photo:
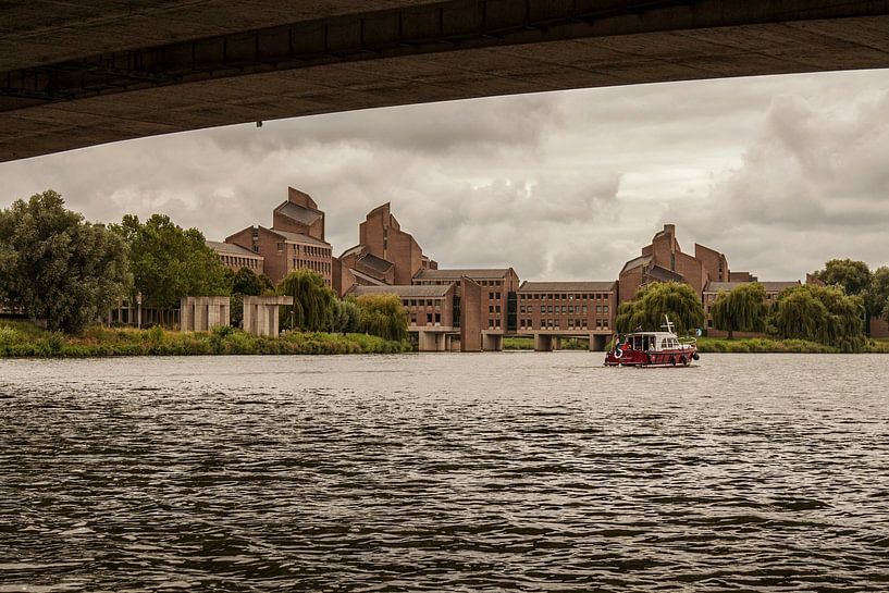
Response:
[{"label": "grassy overgrown riverbank strip along the left shore", "polygon": [[82,336],[47,332],[22,321],[0,321],[0,358],[88,358],[189,355],[337,355],[410,351],[407,342],[367,334],[294,332],[282,337],[254,336],[234,328],[210,333],[161,328],[89,328]]}]

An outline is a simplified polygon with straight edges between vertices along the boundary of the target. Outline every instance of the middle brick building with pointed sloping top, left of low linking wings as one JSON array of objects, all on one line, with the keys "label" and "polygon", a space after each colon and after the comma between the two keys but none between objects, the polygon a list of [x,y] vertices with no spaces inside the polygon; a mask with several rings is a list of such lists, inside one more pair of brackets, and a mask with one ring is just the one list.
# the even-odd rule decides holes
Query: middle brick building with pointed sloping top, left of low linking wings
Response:
[{"label": "middle brick building with pointed sloping top, left of low linking wings", "polygon": [[435,268],[386,202],[368,213],[358,225],[358,245],[334,262],[334,289],[342,296],[354,285],[409,285],[418,272]]}]

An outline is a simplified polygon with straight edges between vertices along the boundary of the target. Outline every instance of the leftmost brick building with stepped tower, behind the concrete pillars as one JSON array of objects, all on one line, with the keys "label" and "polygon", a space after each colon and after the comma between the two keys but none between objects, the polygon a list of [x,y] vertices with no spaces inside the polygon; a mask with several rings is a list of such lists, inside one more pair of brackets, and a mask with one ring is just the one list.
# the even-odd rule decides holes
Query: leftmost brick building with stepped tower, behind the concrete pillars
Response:
[{"label": "leftmost brick building with stepped tower, behind the concrete pillars", "polygon": [[333,284],[333,254],[324,240],[324,212],[308,194],[287,188],[287,200],[272,211],[272,227],[248,226],[225,243],[261,256],[263,270],[277,284],[294,270],[311,270]]}]

